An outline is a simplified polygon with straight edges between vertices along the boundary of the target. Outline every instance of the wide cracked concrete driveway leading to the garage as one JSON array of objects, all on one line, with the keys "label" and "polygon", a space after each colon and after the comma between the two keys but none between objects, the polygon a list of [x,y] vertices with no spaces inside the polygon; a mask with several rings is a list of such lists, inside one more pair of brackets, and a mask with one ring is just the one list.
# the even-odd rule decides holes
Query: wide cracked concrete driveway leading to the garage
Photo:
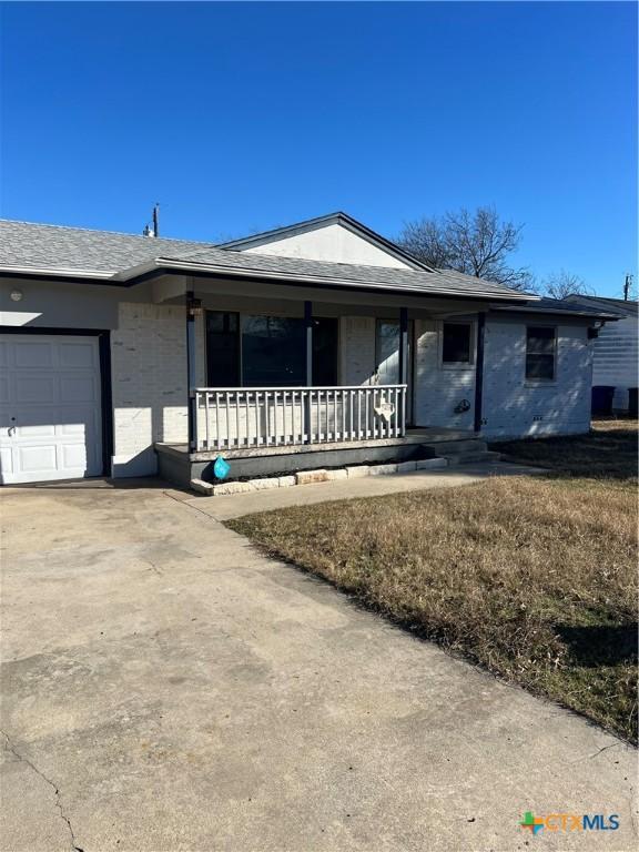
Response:
[{"label": "wide cracked concrete driveway leading to the garage", "polygon": [[[205,505],[2,491],[3,850],[635,849],[632,749]],[[620,828],[532,838],[525,811]]]}]

